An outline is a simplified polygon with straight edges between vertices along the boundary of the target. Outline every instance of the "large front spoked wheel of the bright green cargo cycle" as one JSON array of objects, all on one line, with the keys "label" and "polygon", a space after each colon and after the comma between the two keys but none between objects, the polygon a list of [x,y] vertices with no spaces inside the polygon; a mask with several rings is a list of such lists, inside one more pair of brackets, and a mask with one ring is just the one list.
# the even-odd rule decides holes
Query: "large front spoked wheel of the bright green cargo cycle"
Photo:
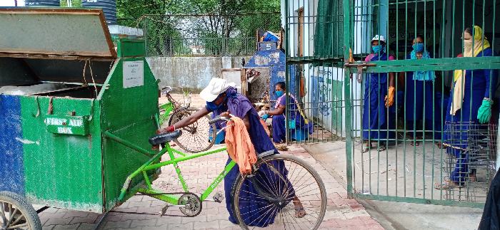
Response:
[{"label": "large front spoked wheel of the bright green cargo cycle", "polygon": [[326,189],[309,164],[278,154],[264,157],[256,167],[252,177],[238,177],[232,191],[234,216],[241,228],[319,228]]}]

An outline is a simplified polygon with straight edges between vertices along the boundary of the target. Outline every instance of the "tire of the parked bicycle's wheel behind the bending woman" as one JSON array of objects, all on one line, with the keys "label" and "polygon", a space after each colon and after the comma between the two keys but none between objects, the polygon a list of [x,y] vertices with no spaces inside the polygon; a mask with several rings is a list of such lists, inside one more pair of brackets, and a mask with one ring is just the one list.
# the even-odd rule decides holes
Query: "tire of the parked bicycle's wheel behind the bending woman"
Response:
[{"label": "tire of the parked bicycle's wheel behind the bending woman", "polygon": [[[189,108],[181,108],[181,109],[175,111],[174,113],[172,113],[172,115],[169,118],[169,125],[174,125],[175,122],[178,122],[179,120],[184,119],[184,117],[188,117],[192,113],[194,113],[194,110],[189,110]],[[211,117],[209,115],[206,115],[204,118],[207,120],[206,125],[209,125],[208,120],[211,120]],[[216,132],[217,132],[215,124],[212,124],[209,126],[211,126],[211,128],[212,128],[212,132],[209,134],[209,136],[212,137],[212,141],[208,142],[208,140],[207,140],[206,144],[202,145],[199,148],[195,149],[194,147],[189,146],[190,143],[181,143],[179,141],[179,138],[191,135],[186,130],[183,130],[182,135],[178,139],[174,140],[174,142],[176,142],[176,144],[179,145],[179,147],[181,147],[181,149],[186,150],[187,152],[191,152],[191,153],[204,152],[206,150],[209,150],[212,146],[214,146],[214,141],[215,141]],[[207,130],[207,132],[208,132],[208,130]]]}]

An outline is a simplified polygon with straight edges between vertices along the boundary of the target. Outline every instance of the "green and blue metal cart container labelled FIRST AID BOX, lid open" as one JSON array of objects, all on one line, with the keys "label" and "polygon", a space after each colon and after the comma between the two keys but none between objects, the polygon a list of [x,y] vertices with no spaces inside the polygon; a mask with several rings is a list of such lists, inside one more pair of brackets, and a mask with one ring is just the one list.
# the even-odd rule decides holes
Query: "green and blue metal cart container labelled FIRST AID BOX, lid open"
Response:
[{"label": "green and blue metal cart container labelled FIRST AID BOX, lid open", "polygon": [[144,41],[112,39],[96,9],[0,9],[0,31],[0,191],[49,207],[115,207],[149,157],[103,133],[150,149],[157,129]]}]

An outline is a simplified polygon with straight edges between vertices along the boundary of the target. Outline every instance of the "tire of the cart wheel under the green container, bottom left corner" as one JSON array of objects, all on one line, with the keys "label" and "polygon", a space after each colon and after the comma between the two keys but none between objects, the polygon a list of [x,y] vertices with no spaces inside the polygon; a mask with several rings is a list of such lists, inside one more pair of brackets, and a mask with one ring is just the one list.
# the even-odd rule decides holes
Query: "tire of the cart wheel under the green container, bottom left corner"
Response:
[{"label": "tire of the cart wheel under the green container, bottom left corner", "polygon": [[26,198],[14,192],[2,191],[0,192],[0,205],[1,202],[13,204],[14,207],[19,209],[19,211],[21,211],[21,214],[24,216],[24,219],[28,223],[29,229],[41,229],[41,222],[38,213],[36,213],[36,210],[33,208],[33,206],[31,206],[31,204],[29,204]]}]

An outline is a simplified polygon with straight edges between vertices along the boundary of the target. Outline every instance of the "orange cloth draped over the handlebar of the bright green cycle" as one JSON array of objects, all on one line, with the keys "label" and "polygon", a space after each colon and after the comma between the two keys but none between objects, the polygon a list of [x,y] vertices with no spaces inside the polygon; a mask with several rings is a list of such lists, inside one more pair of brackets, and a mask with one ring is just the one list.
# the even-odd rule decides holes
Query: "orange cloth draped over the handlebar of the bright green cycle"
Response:
[{"label": "orange cloth draped over the handlebar of the bright green cycle", "polygon": [[245,123],[239,117],[231,117],[231,121],[227,122],[227,126],[227,153],[231,160],[238,164],[241,174],[249,174],[251,173],[251,166],[257,162],[257,155]]}]

